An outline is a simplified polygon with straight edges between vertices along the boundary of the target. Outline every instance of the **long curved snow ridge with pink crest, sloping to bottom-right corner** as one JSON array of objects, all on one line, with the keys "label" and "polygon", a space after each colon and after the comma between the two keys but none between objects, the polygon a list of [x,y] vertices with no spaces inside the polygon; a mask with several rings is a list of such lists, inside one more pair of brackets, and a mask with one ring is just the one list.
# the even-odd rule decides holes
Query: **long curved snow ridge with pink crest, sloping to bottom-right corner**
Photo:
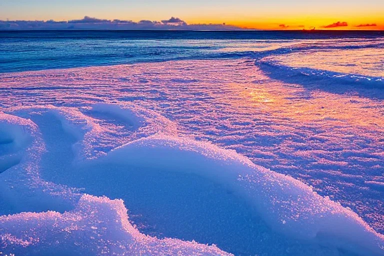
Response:
[{"label": "long curved snow ridge with pink crest, sloping to bottom-right corner", "polygon": [[277,232],[360,255],[384,255],[384,236],[356,213],[232,150],[156,134],[120,146],[99,161],[195,173],[230,187]]}]

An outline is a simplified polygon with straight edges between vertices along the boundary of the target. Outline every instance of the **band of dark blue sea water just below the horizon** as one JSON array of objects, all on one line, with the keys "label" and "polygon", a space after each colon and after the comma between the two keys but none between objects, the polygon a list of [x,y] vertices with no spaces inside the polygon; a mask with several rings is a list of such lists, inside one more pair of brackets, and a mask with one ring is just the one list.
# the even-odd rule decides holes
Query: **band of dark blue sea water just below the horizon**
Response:
[{"label": "band of dark blue sea water just below the horizon", "polygon": [[383,37],[382,31],[0,31],[0,72],[261,57],[311,46],[382,48]]}]

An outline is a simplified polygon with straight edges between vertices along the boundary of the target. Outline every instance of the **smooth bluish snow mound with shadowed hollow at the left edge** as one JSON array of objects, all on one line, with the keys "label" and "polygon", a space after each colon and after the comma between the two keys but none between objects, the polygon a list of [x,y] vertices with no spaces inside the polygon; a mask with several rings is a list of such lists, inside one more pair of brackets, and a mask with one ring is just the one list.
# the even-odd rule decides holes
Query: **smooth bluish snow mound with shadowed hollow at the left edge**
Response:
[{"label": "smooth bluish snow mound with shadowed hollow at the left edge", "polygon": [[46,148],[32,120],[0,112],[0,134],[0,215],[64,210],[78,200],[72,189],[41,178]]}]

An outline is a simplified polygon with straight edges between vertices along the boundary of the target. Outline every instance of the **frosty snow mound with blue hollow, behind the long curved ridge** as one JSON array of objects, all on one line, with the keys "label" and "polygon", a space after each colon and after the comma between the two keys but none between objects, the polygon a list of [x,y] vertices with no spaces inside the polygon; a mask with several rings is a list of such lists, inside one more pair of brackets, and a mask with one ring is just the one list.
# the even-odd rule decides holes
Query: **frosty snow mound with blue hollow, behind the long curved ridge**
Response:
[{"label": "frosty snow mound with blue hollow, behind the long curved ridge", "polygon": [[63,130],[76,139],[72,150],[76,160],[80,161],[96,159],[121,144],[157,132],[177,133],[176,125],[167,118],[129,102],[97,103],[83,108],[49,104],[10,109],[11,114],[24,119],[29,119],[33,114],[52,114],[59,120]]}]

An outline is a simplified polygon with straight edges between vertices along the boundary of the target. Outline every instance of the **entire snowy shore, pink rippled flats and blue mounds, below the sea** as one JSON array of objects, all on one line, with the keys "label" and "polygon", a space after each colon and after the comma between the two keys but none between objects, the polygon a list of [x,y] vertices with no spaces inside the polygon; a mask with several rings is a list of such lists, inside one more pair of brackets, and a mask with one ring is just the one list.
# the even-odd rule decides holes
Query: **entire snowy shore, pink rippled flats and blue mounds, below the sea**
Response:
[{"label": "entire snowy shore, pink rippled flats and blue mounds, below the sea", "polygon": [[309,93],[249,59],[5,73],[0,85],[3,253],[384,255],[375,209],[345,207],[347,189],[343,204],[319,194],[348,184],[380,202],[365,188],[382,191],[374,99]]}]

